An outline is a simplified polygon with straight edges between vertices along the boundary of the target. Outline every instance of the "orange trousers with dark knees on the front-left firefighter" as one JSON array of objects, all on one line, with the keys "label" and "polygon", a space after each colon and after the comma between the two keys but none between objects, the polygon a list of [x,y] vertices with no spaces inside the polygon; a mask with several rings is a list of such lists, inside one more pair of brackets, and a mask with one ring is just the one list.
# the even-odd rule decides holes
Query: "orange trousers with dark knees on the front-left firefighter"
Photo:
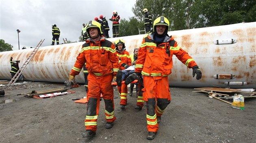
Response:
[{"label": "orange trousers with dark knees on the front-left firefighter", "polygon": [[95,76],[89,73],[88,75],[88,93],[87,93],[87,113],[85,118],[85,128],[96,132],[97,120],[100,107],[100,94],[103,95],[105,102],[105,118],[106,122],[115,121],[114,111],[114,93],[111,85],[113,76]]}]

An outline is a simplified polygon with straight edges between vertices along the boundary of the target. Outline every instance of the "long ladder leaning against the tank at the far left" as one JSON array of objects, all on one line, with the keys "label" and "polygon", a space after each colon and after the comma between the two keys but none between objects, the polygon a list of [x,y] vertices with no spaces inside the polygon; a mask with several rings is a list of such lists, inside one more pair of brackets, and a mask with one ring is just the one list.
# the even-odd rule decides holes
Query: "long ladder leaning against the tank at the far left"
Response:
[{"label": "long ladder leaning against the tank at the far left", "polygon": [[17,71],[17,73],[15,74],[15,76],[13,76],[13,78],[11,79],[11,81],[9,82],[9,84],[7,86],[12,86],[17,79],[20,77],[20,75],[22,74],[22,71],[24,70],[24,68],[26,67],[26,65],[29,63],[30,59],[32,59],[35,55],[35,53],[37,52],[37,50],[39,49],[39,47],[41,46],[41,44],[43,43],[44,39],[41,40],[37,46],[34,48],[34,50],[30,53],[30,55],[28,56],[28,58],[26,59],[26,61],[23,63],[22,67]]}]

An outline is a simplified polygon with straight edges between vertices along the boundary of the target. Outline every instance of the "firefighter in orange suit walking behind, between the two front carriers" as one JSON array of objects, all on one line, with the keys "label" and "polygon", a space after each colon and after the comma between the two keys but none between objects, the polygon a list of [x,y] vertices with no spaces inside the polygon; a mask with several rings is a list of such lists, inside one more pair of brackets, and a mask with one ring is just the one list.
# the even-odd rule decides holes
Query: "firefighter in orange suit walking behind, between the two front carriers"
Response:
[{"label": "firefighter in orange suit walking behind, between the two front carriers", "polygon": [[[132,65],[132,59],[130,58],[129,52],[125,49],[124,40],[117,39],[115,41],[115,47],[117,50],[117,56],[119,59],[119,71],[117,71],[117,78],[121,79],[123,69],[127,69]],[[127,105],[127,85],[121,84],[121,80],[117,81],[117,88],[120,94],[120,108],[124,109]]]}]

